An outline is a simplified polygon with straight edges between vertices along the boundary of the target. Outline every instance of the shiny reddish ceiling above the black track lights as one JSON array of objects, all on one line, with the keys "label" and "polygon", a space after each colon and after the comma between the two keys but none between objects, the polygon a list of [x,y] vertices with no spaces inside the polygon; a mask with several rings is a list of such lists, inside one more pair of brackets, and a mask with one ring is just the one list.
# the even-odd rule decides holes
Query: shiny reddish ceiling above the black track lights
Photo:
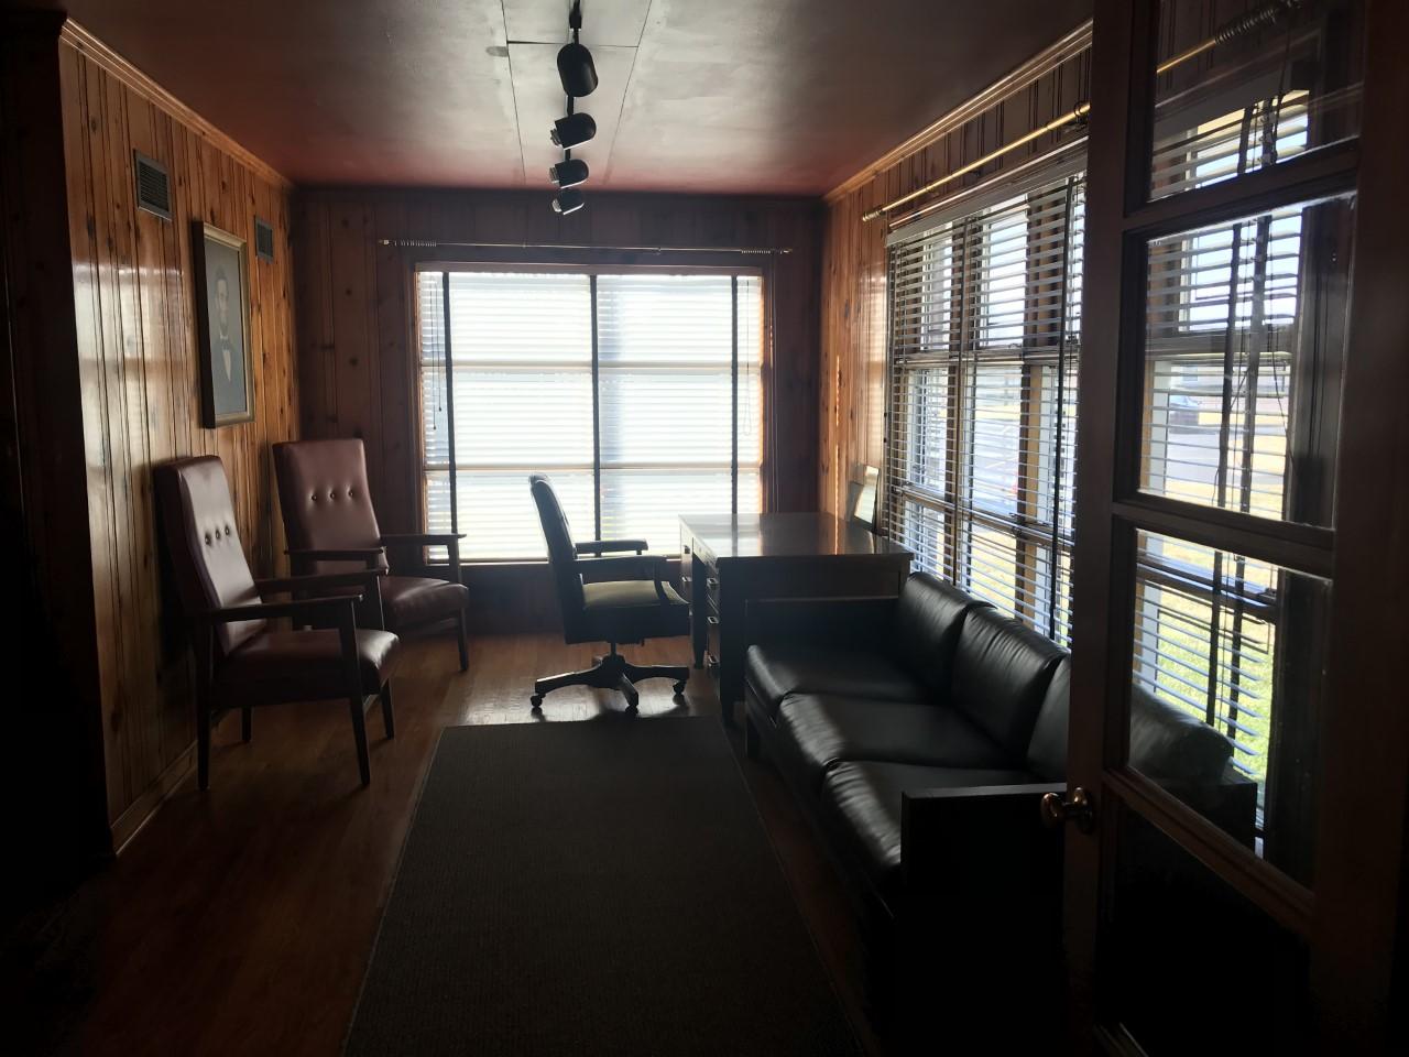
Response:
[{"label": "shiny reddish ceiling above the black track lights", "polygon": [[[302,185],[548,186],[568,0],[48,1]],[[1091,0],[583,0],[593,187],[819,194]]]}]

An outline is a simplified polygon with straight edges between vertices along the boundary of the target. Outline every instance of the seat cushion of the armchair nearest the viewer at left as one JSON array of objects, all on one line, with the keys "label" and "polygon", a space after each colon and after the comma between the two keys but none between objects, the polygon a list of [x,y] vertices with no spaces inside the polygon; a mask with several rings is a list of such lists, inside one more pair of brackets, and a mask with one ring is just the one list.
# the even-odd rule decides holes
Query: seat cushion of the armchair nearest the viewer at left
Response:
[{"label": "seat cushion of the armchair nearest the viewer at left", "polygon": [[[355,634],[362,692],[376,693],[392,674],[400,640],[371,629]],[[249,688],[287,700],[345,698],[341,636],[334,629],[265,631],[221,662],[216,682],[237,696]]]}]

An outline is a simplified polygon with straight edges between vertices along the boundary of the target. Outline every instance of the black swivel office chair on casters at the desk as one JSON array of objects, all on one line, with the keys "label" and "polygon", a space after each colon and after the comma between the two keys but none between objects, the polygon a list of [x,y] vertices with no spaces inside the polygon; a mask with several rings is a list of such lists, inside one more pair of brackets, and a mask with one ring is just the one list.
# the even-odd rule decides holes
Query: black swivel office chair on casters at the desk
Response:
[{"label": "black swivel office chair on casters at the desk", "polygon": [[[528,485],[534,503],[538,505],[544,540],[548,541],[548,565],[552,568],[558,606],[562,610],[564,641],[607,643],[612,648],[612,653],[586,671],[538,679],[533,692],[534,709],[542,705],[542,695],[559,686],[621,691],[633,709],[640,702],[634,684],[641,679],[674,679],[675,692],[683,693],[690,676],[686,665],[631,664],[617,653],[620,643],[644,643],[647,638],[689,633],[689,603],[665,582],[665,557],[643,554],[645,540],[573,543],[568,517],[562,513],[548,478],[534,474],[528,478]],[[620,551],[635,554],[604,557]]]}]

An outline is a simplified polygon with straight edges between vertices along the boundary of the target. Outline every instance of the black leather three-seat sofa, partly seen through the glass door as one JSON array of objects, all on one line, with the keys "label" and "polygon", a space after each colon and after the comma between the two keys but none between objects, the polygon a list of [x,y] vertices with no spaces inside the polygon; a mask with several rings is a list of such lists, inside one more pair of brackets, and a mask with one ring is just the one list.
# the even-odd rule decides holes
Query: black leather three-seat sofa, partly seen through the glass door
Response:
[{"label": "black leather three-seat sofa, partly seen through the glass door", "polygon": [[[920,1049],[940,1008],[951,1041],[1050,1039],[1062,834],[1038,801],[1065,789],[1067,653],[926,574],[899,598],[751,603],[748,634],[747,747],[855,898],[874,1012]],[[1230,755],[1192,715],[1133,698],[1131,764],[1250,841],[1255,785]]]}]

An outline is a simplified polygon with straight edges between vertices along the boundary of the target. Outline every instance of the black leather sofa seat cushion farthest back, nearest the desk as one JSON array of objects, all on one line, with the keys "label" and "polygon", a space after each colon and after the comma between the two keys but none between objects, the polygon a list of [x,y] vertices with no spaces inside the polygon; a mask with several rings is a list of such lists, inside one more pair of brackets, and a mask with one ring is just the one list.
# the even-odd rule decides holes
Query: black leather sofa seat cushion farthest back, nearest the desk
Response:
[{"label": "black leather sofa seat cushion farthest back, nearest the desk", "polygon": [[744,660],[744,679],[769,717],[789,693],[827,692],[871,700],[924,700],[926,688],[883,654],[807,643],[759,643]]}]

